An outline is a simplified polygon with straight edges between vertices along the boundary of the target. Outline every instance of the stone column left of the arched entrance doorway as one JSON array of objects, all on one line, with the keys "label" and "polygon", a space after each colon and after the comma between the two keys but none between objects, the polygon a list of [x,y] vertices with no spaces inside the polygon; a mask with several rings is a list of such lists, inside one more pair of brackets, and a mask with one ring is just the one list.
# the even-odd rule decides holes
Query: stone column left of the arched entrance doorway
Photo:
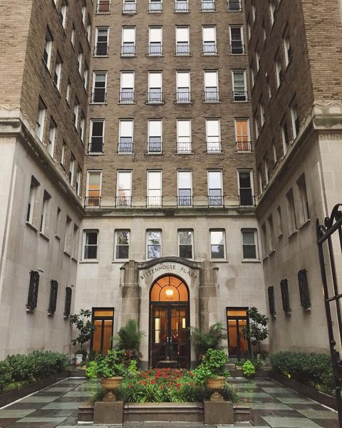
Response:
[{"label": "stone column left of the arched entrance doorway", "polygon": [[139,325],[140,288],[138,280],[138,263],[130,260],[123,267],[123,286],[121,296],[123,299],[121,309],[121,325],[133,319]]}]

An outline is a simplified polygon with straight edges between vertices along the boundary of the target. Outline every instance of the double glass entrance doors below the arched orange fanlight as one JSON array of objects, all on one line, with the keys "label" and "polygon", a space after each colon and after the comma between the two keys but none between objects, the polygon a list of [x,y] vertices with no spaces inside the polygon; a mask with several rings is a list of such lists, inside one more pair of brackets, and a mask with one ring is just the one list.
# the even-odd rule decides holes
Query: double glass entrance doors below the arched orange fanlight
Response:
[{"label": "double glass entrance doors below the arched orange fanlight", "polygon": [[150,365],[174,361],[190,367],[189,306],[156,303],[150,307]]}]

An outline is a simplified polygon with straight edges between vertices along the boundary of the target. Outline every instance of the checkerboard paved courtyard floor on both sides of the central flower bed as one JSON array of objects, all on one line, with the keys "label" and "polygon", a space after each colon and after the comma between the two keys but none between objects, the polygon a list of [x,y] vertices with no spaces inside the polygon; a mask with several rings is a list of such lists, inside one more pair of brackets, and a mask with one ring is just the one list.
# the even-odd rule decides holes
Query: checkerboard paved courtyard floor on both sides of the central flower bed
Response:
[{"label": "checkerboard paved courtyard floor on both sides of the central flower bed", "polygon": [[[254,379],[249,382],[244,378],[233,378],[232,384],[237,388],[242,404],[249,404],[260,417],[259,428],[338,428],[336,412],[296,394],[274,380]],[[0,428],[76,427],[78,407],[92,397],[96,388],[96,384],[85,379],[64,379],[0,409]],[[236,426],[246,427],[248,424]],[[108,425],[108,428],[111,427],[115,426]],[[167,428],[199,427],[203,425],[167,424]],[[138,422],[125,424],[125,428],[165,428],[165,424]]]}]

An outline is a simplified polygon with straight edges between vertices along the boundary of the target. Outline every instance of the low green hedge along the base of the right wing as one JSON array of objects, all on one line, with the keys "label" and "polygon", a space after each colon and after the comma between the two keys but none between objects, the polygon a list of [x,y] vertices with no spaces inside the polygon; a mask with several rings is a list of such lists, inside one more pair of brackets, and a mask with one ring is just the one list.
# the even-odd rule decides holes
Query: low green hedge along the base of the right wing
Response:
[{"label": "low green hedge along the base of the right wing", "polygon": [[331,357],[306,352],[278,352],[270,355],[273,370],[324,392],[334,389]]}]

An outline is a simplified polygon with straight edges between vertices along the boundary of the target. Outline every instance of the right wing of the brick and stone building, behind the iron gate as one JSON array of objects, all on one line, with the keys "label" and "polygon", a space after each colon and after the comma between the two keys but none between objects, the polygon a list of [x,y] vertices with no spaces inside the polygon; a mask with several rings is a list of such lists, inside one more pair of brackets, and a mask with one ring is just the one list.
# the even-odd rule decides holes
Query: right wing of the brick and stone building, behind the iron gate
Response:
[{"label": "right wing of the brick and stone building, behind the iron gate", "polygon": [[271,350],[327,352],[316,218],[342,200],[341,2],[247,0],[246,17]]}]

